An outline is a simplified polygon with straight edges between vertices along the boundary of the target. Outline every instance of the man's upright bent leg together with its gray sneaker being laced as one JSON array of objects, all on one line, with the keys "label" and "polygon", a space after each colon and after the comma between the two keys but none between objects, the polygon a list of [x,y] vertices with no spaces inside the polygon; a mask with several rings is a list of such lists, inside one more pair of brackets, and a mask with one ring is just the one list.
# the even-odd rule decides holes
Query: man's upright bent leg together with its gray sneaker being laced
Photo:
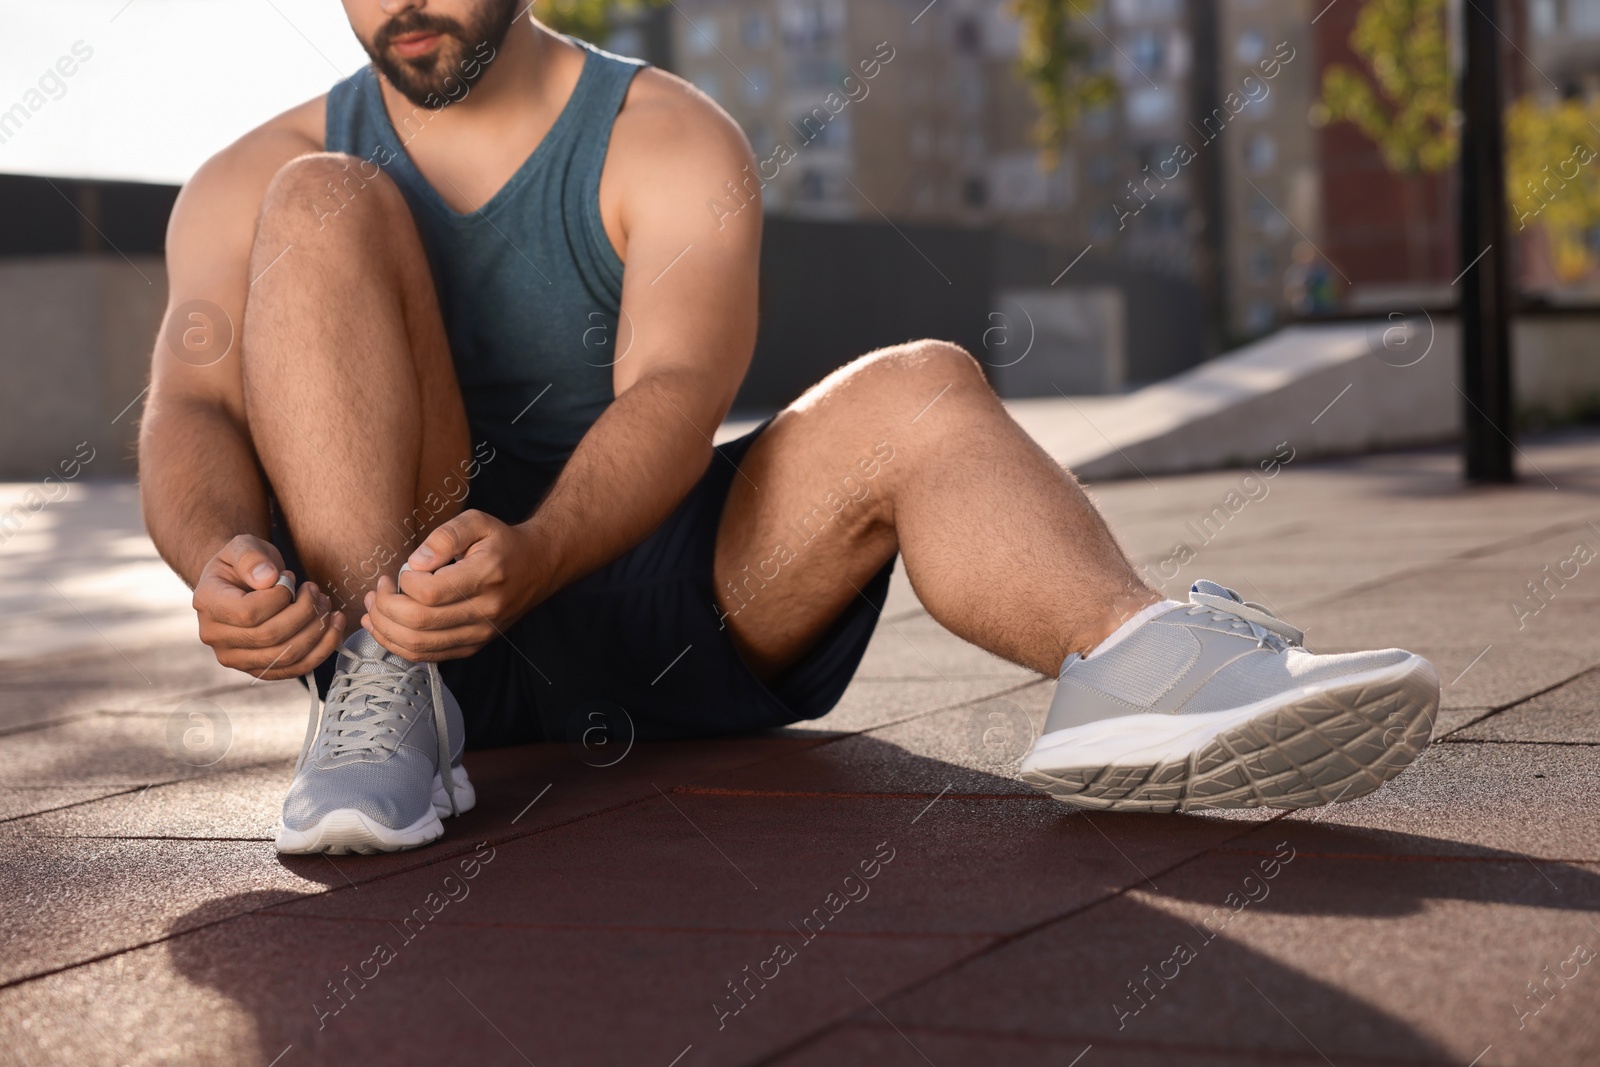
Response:
[{"label": "man's upright bent leg together with its gray sneaker being laced", "polygon": [[[309,155],[274,178],[242,338],[245,413],[310,571],[298,577],[320,582],[352,624],[378,576],[395,576],[459,510],[469,448],[411,213],[387,178],[355,173],[349,157]],[[307,731],[283,853],[416,848],[445,832],[440,816],[474,805],[461,709],[437,667],[360,629],[344,649],[339,667],[355,673],[334,675]],[[349,683],[357,673],[363,685]]]}]

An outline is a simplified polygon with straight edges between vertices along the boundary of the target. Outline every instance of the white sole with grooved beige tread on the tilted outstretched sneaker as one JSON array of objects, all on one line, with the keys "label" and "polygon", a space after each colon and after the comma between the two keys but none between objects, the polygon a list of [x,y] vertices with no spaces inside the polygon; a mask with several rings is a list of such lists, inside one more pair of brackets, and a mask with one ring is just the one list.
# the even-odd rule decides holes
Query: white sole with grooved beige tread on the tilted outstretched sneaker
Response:
[{"label": "white sole with grooved beige tread on the tilted outstretched sneaker", "polygon": [[1314,808],[1354,800],[1429,742],[1438,672],[1421,656],[1203,715],[1126,715],[1043,734],[1022,781],[1101,811]]}]

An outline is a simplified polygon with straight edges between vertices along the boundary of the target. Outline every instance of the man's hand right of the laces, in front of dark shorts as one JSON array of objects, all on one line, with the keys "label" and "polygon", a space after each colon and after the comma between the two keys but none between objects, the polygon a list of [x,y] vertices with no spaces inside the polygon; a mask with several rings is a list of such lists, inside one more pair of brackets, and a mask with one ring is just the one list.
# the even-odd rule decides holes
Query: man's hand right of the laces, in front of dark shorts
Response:
[{"label": "man's hand right of the laces, in front of dark shorts", "polygon": [[526,530],[483,512],[461,512],[366,593],[365,625],[413,661],[461,659],[494,640],[541,597],[542,573]]}]

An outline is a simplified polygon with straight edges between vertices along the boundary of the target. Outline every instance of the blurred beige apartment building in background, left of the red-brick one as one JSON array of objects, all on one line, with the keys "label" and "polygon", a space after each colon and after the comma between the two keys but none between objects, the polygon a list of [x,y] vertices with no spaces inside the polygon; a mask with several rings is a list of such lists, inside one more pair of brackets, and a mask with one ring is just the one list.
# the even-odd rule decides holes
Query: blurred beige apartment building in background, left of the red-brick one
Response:
[{"label": "blurred beige apartment building in background, left of the red-brick one", "polygon": [[[1309,0],[1077,8],[1090,69],[1120,91],[1053,168],[1032,139],[1005,0],[677,0],[669,66],[744,126],[758,158],[794,147],[768,168],[768,211],[994,226],[1062,266],[1093,246],[1098,282],[1194,286],[1219,309],[1213,347],[1266,333],[1290,315],[1296,245],[1322,237]],[[885,46],[874,80],[846,82]],[[837,106],[853,88],[861,99],[818,122],[829,93]]]}]

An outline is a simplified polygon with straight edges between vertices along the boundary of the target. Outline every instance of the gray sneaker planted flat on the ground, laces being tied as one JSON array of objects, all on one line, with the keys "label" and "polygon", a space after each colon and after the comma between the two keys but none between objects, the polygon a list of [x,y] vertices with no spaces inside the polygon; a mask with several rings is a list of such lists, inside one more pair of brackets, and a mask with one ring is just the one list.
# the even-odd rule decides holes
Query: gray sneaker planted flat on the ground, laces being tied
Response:
[{"label": "gray sneaker planted flat on the ground, laces being tied", "polygon": [[310,694],[278,851],[394,853],[438,840],[440,816],[477,801],[461,766],[461,705],[435,664],[397,656],[366,630],[346,638],[338,667],[320,715]]}]

